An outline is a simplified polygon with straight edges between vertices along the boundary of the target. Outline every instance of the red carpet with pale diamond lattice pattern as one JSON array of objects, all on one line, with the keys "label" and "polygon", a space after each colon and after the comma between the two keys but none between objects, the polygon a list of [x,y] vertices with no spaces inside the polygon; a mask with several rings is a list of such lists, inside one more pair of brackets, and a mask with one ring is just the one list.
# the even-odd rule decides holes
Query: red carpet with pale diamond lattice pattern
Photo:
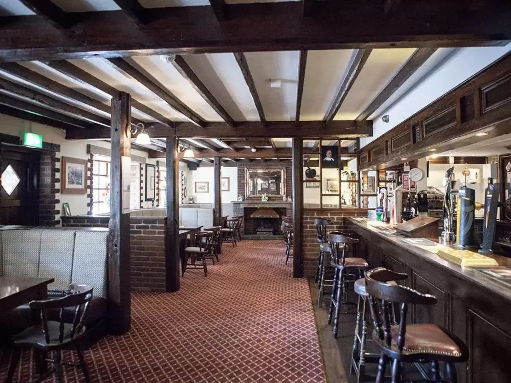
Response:
[{"label": "red carpet with pale diamond lattice pattern", "polygon": [[[187,271],[178,293],[133,293],[131,331],[85,351],[91,381],[324,381],[308,283],[284,258],[280,241],[225,244],[207,277]],[[15,381],[37,377],[30,356]],[[66,382],[84,381],[64,371]]]}]

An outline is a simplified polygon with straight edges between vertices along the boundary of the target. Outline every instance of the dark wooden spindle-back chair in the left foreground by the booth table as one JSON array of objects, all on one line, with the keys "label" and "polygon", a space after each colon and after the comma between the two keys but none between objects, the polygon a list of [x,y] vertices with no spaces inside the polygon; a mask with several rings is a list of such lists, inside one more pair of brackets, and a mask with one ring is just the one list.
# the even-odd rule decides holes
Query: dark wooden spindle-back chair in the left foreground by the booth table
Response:
[{"label": "dark wooden spindle-back chair in the left foreground by the booth table", "polygon": [[[79,366],[82,369],[85,381],[90,381],[87,366],[80,350],[79,341],[85,333],[83,318],[92,298],[92,287],[83,284],[69,285],[70,294],[62,298],[32,301],[29,303],[32,310],[40,310],[41,322],[21,331],[13,338],[14,351],[7,373],[6,382],[12,382],[16,366],[19,363],[21,350],[33,348],[39,352],[38,365],[39,379],[55,373],[57,381],[62,381],[62,365]],[[65,323],[66,313],[72,310],[72,323]],[[57,320],[51,320],[57,319]],[[62,362],[61,350],[75,349],[79,362]],[[48,353],[55,353],[54,358],[47,358]],[[51,362],[54,369],[47,371],[46,362]]]}]

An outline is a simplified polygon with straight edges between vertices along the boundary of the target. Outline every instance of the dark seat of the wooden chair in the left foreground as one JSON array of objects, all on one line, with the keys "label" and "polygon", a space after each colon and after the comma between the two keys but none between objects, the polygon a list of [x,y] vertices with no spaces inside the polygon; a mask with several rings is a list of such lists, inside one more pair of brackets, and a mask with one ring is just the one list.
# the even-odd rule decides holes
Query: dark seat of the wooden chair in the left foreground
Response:
[{"label": "dark seat of the wooden chair in the left foreground", "polygon": [[85,327],[82,327],[81,331],[75,332],[75,336],[71,337],[71,330],[73,328],[73,324],[64,323],[64,338],[63,342],[59,343],[59,326],[60,322],[56,321],[48,321],[48,332],[50,334],[50,344],[46,343],[44,338],[44,330],[42,328],[42,324],[38,324],[35,326],[31,326],[19,334],[17,334],[13,338],[13,343],[17,346],[22,347],[38,347],[38,348],[48,348],[52,346],[61,347],[63,344],[76,339],[79,335],[81,335],[85,331]]}]

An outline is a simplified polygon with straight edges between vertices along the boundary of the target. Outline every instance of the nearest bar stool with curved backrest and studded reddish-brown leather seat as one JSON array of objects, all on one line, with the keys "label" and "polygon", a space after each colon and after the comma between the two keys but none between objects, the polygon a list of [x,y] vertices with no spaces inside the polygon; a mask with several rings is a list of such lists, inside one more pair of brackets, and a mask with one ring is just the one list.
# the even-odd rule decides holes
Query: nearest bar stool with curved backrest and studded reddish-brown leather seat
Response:
[{"label": "nearest bar stool with curved backrest and studded reddish-brown leather seat", "polygon": [[[387,283],[403,279],[404,274],[385,268],[365,274],[366,291],[369,294],[373,317],[373,339],[381,350],[377,383],[384,381],[385,368],[392,360],[392,382],[401,383],[402,363],[429,363],[434,382],[440,382],[438,362],[445,362],[446,376],[450,383],[457,382],[454,363],[467,362],[467,346],[454,334],[434,324],[407,324],[409,304],[435,304],[433,295],[421,294],[406,286]],[[399,325],[391,324],[390,307],[399,304]],[[409,379],[406,379],[409,381]]]}]

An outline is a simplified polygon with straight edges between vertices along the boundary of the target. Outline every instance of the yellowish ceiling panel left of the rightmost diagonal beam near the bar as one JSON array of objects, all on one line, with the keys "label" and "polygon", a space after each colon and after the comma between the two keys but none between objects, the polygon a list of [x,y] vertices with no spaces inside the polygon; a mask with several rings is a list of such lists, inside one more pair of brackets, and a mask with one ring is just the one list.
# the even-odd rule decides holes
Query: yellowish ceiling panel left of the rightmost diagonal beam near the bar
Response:
[{"label": "yellowish ceiling panel left of the rightmost diagonal beam near the bar", "polygon": [[414,51],[413,48],[373,50],[334,119],[357,118]]}]

